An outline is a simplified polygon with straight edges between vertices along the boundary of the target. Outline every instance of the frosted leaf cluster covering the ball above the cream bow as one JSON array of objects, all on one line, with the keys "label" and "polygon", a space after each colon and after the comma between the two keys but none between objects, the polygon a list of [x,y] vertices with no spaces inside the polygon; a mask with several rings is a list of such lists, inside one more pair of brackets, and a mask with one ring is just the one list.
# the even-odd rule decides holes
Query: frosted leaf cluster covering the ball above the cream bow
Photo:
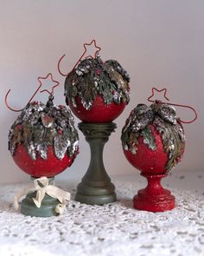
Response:
[{"label": "frosted leaf cluster covering the ball above the cream bow", "polygon": [[73,126],[73,116],[64,106],[55,106],[49,98],[47,105],[30,102],[23,108],[10,128],[9,149],[16,154],[18,145],[23,145],[29,157],[48,159],[48,147],[54,148],[57,159],[75,156],[78,152],[78,133]]}]

